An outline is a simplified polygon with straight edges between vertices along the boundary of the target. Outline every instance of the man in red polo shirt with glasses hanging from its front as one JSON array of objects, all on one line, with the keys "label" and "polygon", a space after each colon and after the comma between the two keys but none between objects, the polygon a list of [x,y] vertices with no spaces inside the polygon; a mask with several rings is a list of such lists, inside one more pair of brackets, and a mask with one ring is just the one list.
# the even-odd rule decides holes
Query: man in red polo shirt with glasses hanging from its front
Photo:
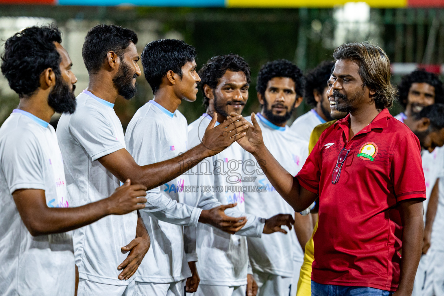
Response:
[{"label": "man in red polo shirt with glasses hanging from its front", "polygon": [[389,114],[395,89],[380,47],[343,44],[333,57],[335,107],[349,115],[324,131],[296,177],[267,150],[254,114],[239,144],[296,212],[319,195],[312,295],[411,295],[424,231],[420,143]]}]

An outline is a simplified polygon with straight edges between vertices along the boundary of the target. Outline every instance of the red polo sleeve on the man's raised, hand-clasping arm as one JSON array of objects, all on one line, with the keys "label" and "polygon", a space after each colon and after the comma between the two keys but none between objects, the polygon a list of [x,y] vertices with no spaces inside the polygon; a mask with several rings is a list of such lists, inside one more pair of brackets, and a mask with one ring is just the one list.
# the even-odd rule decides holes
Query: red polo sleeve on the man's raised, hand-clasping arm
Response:
[{"label": "red polo sleeve on the man's raised, hand-clasping arm", "polygon": [[296,178],[299,184],[310,192],[318,194],[319,180],[321,178],[321,168],[319,167],[319,142],[314,145],[302,169],[297,173]]}]

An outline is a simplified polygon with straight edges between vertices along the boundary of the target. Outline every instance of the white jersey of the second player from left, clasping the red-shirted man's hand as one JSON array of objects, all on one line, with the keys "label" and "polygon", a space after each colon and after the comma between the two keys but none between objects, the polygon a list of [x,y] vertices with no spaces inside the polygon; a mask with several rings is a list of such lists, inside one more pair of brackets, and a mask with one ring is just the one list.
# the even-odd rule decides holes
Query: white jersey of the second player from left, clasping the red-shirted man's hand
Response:
[{"label": "white jersey of the second player from left, clasping the red-shirted man's hand", "polygon": [[[62,114],[57,137],[65,162],[67,189],[73,205],[86,205],[109,197],[119,179],[97,160],[125,148],[123,128],[114,104],[83,91],[76,98],[73,114]],[[125,286],[119,280],[121,251],[136,236],[137,212],[109,215],[74,231],[75,262],[79,278],[102,284]]]}]

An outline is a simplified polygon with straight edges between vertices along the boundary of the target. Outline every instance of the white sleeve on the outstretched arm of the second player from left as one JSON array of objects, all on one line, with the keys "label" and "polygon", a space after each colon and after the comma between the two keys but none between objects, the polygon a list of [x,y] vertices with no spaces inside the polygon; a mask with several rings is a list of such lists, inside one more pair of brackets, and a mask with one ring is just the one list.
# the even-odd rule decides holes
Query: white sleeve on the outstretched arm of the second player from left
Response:
[{"label": "white sleeve on the outstretched arm of the second player from left", "polygon": [[108,119],[94,109],[75,112],[69,122],[69,132],[92,161],[124,148],[115,137]]}]

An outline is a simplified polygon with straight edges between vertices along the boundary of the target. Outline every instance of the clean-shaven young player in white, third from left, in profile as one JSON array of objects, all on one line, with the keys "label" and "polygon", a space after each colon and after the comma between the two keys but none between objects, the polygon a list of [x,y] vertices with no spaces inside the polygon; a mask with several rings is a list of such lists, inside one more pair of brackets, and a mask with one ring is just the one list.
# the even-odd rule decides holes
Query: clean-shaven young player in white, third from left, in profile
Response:
[{"label": "clean-shaven young player in white, third from left, in profile", "polygon": [[[160,162],[186,152],[187,122],[177,108],[182,100],[196,100],[196,87],[200,81],[194,61],[196,55],[194,47],[174,39],[152,41],[143,49],[143,71],[155,97],[136,112],[125,135],[128,152],[139,165]],[[215,122],[216,118],[205,129],[212,128]],[[230,121],[226,121],[222,126],[229,124]],[[231,136],[235,137],[235,134]],[[178,206],[166,215],[149,208],[141,212],[151,237],[151,249],[147,253],[148,260],[143,261],[136,274],[134,295],[182,296],[184,286],[186,292],[196,291],[199,276],[195,229],[202,209],[189,201],[190,205],[184,204],[185,192],[195,198],[201,191],[195,185],[182,174],[148,191],[149,201],[163,197]],[[204,210],[219,211],[224,216],[224,210],[234,205],[217,203]],[[190,215],[184,216],[184,212]],[[243,213],[237,217],[225,216],[237,223],[224,230],[234,233],[250,220]]]}]

